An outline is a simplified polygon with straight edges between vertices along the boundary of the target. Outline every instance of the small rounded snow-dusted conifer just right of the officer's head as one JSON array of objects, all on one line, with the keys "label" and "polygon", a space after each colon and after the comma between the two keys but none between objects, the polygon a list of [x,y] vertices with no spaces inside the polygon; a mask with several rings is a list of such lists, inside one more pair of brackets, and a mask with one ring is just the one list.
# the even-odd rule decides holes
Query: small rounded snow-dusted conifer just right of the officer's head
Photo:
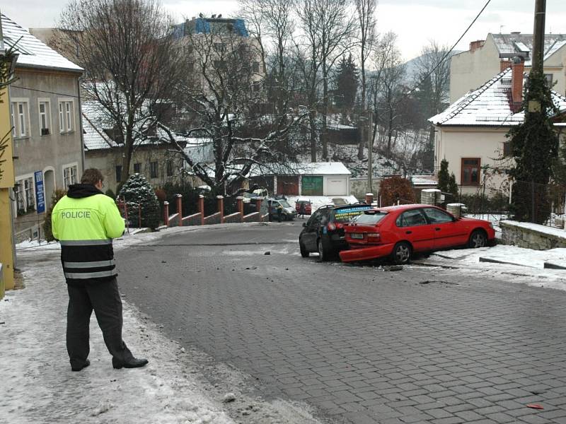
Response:
[{"label": "small rounded snow-dusted conifer just right of the officer's head", "polygon": [[141,174],[130,175],[118,196],[125,199],[128,219],[137,225],[141,209],[141,226],[155,229],[159,225],[159,201],[149,182]]}]

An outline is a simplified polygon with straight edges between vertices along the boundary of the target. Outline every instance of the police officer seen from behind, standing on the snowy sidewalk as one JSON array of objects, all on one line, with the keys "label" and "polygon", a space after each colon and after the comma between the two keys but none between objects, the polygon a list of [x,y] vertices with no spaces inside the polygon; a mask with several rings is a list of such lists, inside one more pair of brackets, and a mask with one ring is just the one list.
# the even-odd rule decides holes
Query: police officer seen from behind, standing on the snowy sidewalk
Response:
[{"label": "police officer seen from behind, standing on the snowy sidewalk", "polygon": [[103,179],[99,170],[85,170],[81,184],[70,185],[67,196],[52,211],[53,236],[61,243],[69,292],[67,352],[73,371],[91,364],[88,325],[93,310],[113,367],[137,368],[148,363],[134,358],[122,340],[122,300],[112,239],[124,232],[124,220],[114,200],[100,192]]}]

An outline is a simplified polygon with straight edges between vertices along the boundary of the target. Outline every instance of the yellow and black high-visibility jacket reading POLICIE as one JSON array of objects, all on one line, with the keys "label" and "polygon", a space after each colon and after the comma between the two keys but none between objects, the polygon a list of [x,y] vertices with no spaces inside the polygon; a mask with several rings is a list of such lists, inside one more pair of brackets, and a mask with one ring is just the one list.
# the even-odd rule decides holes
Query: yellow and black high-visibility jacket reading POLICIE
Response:
[{"label": "yellow and black high-visibility jacket reading POLICIE", "polygon": [[114,200],[90,184],[72,184],[54,206],[51,222],[67,283],[115,278],[112,239],[125,225]]}]

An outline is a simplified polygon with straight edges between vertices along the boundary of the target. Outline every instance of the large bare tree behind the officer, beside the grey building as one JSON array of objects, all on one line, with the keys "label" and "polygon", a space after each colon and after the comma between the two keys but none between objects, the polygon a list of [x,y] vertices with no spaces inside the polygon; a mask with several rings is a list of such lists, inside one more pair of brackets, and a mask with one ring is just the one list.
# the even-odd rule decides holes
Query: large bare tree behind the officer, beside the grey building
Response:
[{"label": "large bare tree behind the officer, beside the grey building", "polygon": [[156,105],[180,81],[172,24],[155,0],[76,0],[62,13],[67,48],[86,69],[86,98],[100,104],[123,141],[122,182],[144,126],[163,110]]}]

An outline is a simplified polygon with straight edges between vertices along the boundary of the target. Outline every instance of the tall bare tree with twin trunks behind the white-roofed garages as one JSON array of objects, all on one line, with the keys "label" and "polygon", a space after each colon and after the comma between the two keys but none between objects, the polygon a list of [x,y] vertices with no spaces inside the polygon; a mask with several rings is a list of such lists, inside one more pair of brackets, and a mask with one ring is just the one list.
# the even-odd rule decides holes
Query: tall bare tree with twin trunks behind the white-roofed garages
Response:
[{"label": "tall bare tree with twin trunks behind the white-roofed garages", "polygon": [[[355,16],[351,6],[351,0],[300,0],[297,8],[311,64],[311,96],[309,97],[311,101],[315,98],[312,90],[316,90],[319,71],[322,78],[323,98],[320,114],[322,115],[323,160],[328,160],[327,122],[330,71],[337,59],[352,47],[356,30]],[[309,119],[311,119],[312,131],[315,114],[311,115]],[[311,148],[313,141],[314,139],[311,138]],[[311,156],[316,160],[316,152],[311,152]]]}]

